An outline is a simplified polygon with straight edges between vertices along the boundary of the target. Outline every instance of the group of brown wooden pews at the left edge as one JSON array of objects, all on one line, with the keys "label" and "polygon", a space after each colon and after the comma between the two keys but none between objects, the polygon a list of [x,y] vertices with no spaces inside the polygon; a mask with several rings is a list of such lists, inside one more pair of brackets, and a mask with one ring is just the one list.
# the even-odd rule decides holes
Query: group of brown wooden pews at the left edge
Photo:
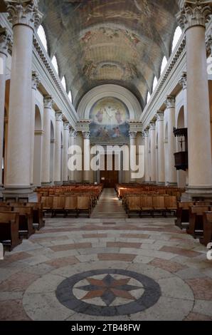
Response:
[{"label": "group of brown wooden pews at the left edge", "polygon": [[0,242],[9,249],[45,225],[43,206],[37,202],[0,202]]}]

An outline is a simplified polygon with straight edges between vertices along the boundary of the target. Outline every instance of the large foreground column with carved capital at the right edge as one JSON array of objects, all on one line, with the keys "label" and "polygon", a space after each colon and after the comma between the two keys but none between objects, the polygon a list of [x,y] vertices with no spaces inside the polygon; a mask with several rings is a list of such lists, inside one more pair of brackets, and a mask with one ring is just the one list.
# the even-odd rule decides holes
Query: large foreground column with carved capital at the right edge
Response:
[{"label": "large foreground column with carved capital at the right edge", "polygon": [[[206,2],[206,1],[205,1]],[[211,127],[206,63],[206,22],[211,2],[184,1],[178,14],[186,31],[189,188],[191,197],[212,195]]]}]

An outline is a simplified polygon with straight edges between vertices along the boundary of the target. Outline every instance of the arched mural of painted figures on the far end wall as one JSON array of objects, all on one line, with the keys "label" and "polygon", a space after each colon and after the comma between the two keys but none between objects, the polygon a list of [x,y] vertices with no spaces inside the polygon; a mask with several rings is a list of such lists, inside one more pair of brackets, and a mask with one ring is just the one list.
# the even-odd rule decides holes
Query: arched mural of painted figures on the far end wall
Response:
[{"label": "arched mural of painted figures on the far end wall", "polygon": [[127,143],[129,110],[117,98],[102,98],[90,110],[90,133],[93,144]]}]

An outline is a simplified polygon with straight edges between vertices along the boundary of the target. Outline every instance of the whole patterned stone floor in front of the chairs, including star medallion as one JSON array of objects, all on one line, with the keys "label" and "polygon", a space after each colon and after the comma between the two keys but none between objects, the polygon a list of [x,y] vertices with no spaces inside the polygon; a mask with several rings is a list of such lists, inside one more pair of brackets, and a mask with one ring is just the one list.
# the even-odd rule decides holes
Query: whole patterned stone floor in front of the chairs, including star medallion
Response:
[{"label": "whole patterned stone floor in front of the chairs, including star medallion", "polygon": [[212,320],[212,262],[173,218],[46,220],[0,261],[1,320]]}]

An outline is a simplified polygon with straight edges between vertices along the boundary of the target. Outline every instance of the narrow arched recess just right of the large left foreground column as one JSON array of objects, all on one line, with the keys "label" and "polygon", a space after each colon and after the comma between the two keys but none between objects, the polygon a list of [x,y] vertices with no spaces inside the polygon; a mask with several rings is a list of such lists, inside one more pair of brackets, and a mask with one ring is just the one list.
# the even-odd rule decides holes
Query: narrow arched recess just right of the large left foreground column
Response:
[{"label": "narrow arched recess just right of the large left foreground column", "polygon": [[41,186],[41,157],[42,157],[42,120],[41,112],[36,105],[35,112],[35,140],[33,153],[33,185]]}]

